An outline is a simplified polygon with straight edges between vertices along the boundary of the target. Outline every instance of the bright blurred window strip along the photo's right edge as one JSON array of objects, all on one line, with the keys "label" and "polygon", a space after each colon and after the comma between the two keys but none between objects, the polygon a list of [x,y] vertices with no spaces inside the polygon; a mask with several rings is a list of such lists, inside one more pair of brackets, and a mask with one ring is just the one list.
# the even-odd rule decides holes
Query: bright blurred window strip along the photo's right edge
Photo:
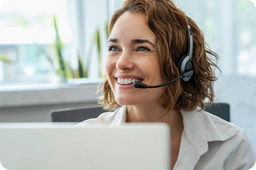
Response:
[{"label": "bright blurred window strip along the photo's right edge", "polygon": [[256,75],[256,2],[235,1],[234,32],[237,72]]}]

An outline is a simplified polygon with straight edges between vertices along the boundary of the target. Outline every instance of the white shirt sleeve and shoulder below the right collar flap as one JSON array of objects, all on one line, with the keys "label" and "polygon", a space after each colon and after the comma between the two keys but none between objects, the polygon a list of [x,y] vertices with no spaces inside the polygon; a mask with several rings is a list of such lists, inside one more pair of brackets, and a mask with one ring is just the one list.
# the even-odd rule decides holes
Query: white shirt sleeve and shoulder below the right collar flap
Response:
[{"label": "white shirt sleeve and shoulder below the right collar flap", "polygon": [[256,169],[250,141],[243,129],[226,140],[208,143],[208,150],[198,160],[195,169]]}]

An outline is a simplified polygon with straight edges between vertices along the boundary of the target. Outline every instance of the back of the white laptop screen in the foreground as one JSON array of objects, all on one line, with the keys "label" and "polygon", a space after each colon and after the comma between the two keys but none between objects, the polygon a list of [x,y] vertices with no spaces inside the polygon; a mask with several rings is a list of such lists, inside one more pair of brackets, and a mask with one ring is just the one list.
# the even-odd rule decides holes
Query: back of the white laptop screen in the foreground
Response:
[{"label": "back of the white laptop screen in the foreground", "polygon": [[170,169],[164,123],[0,125],[0,169]]}]

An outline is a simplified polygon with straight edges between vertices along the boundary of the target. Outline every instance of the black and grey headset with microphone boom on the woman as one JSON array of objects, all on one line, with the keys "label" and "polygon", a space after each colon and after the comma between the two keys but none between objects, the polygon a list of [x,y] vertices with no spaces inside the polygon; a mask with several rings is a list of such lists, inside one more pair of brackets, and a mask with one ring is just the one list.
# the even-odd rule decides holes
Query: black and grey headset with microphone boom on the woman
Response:
[{"label": "black and grey headset with microphone boom on the woman", "polygon": [[190,28],[190,25],[188,25],[188,52],[187,55],[184,55],[181,57],[180,61],[179,61],[179,73],[180,76],[168,81],[166,83],[163,84],[159,84],[156,86],[148,86],[147,84],[141,83],[141,82],[135,82],[133,83],[133,86],[135,88],[139,88],[139,89],[147,89],[147,88],[160,88],[162,86],[166,86],[167,84],[170,84],[174,81],[177,81],[179,79],[181,79],[181,81],[188,81],[190,80],[190,78],[192,77],[192,75],[194,74],[194,69],[193,69],[193,62],[192,62],[192,55],[193,55],[193,36],[192,36],[192,31]]}]

